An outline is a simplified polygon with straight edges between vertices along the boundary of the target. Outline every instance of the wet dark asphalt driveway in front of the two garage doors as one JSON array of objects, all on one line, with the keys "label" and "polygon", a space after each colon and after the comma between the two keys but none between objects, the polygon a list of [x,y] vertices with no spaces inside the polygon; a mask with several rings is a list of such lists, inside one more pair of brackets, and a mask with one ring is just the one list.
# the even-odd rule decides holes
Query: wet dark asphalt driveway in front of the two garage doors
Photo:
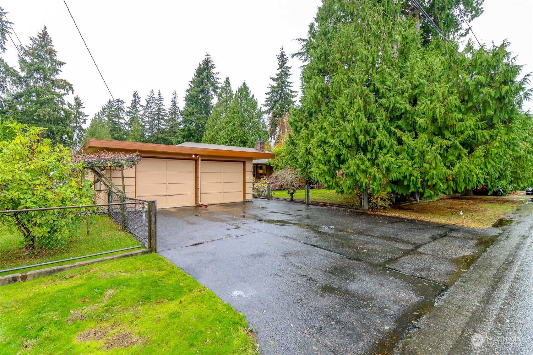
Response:
[{"label": "wet dark asphalt driveway in front of the two garage doors", "polygon": [[274,200],[161,209],[157,231],[263,354],[392,353],[499,233]]}]

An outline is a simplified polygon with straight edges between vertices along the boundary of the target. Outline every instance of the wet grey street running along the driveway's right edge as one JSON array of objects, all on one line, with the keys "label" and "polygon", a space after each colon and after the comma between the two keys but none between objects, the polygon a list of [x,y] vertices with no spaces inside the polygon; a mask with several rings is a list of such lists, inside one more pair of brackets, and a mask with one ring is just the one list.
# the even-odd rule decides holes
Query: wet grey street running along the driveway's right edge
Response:
[{"label": "wet grey street running along the driveway's right edge", "polygon": [[[408,334],[400,353],[533,354],[533,204]],[[512,221],[512,223],[510,223]]]}]

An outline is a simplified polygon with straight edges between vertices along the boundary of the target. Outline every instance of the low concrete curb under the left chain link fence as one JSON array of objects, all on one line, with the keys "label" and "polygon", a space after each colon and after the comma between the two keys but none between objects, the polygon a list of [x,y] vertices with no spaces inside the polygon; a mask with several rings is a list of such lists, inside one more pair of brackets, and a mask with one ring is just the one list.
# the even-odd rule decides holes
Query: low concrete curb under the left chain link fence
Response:
[{"label": "low concrete curb under the left chain link fence", "polygon": [[150,249],[141,249],[141,250],[136,250],[136,251],[128,252],[128,253],[99,257],[97,259],[78,261],[76,263],[71,263],[71,264],[58,265],[58,266],[51,267],[51,268],[12,273],[10,275],[0,276],[0,286],[9,285],[13,283],[19,283],[22,281],[29,281],[29,280],[33,280],[41,276],[50,276],[61,271],[76,269],[76,268],[79,268],[85,265],[100,263],[102,261],[122,259],[123,257],[149,254],[151,252],[152,251]]}]

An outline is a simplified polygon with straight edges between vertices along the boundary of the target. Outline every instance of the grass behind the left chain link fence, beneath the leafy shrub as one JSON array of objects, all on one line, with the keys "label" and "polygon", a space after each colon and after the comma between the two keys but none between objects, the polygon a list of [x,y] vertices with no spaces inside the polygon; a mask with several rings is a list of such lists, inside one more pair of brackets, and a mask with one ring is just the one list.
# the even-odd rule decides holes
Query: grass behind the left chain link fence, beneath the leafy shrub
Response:
[{"label": "grass behind the left chain link fence, beneath the leafy shrub", "polygon": [[[66,240],[66,245],[53,249],[43,248],[37,252],[24,250],[23,238],[17,230],[0,224],[0,270],[68,259],[140,245],[130,233],[107,215],[92,215],[89,219],[89,234],[83,223],[75,236]],[[20,272],[20,271],[14,271]],[[0,274],[4,275],[4,273]]]}]

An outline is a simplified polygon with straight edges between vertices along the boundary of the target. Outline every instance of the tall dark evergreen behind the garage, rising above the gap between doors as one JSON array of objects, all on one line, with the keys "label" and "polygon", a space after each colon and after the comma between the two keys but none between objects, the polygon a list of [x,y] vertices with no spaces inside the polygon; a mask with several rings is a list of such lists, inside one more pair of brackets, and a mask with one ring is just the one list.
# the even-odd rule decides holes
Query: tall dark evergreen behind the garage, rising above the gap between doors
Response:
[{"label": "tall dark evergreen behind the garage, rising above the gap between doors", "polygon": [[215,72],[215,63],[206,53],[195,75],[185,91],[184,106],[181,112],[182,128],[179,142],[201,142],[207,119],[211,116],[213,99],[219,90],[219,73]]}]

